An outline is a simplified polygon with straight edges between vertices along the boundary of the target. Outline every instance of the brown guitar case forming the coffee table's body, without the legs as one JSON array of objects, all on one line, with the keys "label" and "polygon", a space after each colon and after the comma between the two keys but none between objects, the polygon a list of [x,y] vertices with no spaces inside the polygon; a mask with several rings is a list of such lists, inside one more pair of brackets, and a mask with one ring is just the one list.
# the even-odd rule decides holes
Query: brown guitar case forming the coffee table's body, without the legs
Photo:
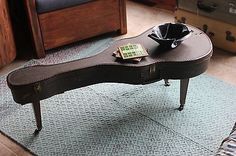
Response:
[{"label": "brown guitar case forming the coffee table's body, without the legs", "polygon": [[[148,37],[152,31],[149,29],[137,37],[118,40],[92,57],[18,69],[8,75],[8,86],[14,100],[26,104],[101,82],[145,84],[160,79],[191,78],[207,69],[212,44],[202,31],[189,28],[193,31],[191,37],[172,50],[160,49],[158,43]],[[142,44],[149,56],[139,63],[116,60],[113,52],[128,43]]]}]

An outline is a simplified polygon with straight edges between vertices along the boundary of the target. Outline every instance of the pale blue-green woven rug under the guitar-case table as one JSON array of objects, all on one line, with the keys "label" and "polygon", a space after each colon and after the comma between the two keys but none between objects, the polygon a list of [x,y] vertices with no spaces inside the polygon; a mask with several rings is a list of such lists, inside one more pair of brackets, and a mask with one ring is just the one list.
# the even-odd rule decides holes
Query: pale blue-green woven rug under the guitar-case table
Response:
[{"label": "pale blue-green woven rug under the guitar-case table", "polygon": [[[102,51],[111,39],[71,46],[26,65],[52,64]],[[81,47],[82,46],[82,47]],[[101,83],[43,100],[34,135],[31,105],[16,104],[0,77],[0,130],[37,155],[214,155],[236,118],[236,87],[205,74],[190,80],[186,107],[179,81]]]}]

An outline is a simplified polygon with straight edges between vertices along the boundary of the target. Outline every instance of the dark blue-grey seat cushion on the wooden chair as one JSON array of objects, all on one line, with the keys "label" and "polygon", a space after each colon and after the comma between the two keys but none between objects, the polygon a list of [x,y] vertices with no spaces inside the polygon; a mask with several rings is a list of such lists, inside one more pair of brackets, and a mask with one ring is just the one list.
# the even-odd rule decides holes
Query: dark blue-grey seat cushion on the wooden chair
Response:
[{"label": "dark blue-grey seat cushion on the wooden chair", "polygon": [[36,0],[36,8],[38,13],[45,13],[80,5],[90,1],[92,0]]}]

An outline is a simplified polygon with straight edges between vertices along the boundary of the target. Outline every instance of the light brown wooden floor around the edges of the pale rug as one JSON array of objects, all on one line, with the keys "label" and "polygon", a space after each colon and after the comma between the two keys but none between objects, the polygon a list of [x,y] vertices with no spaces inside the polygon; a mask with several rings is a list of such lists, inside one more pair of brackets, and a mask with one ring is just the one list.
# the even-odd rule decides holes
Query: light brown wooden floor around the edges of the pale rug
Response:
[{"label": "light brown wooden floor around the edges of the pale rug", "polygon": [[[131,37],[142,33],[148,28],[165,22],[174,22],[173,12],[158,9],[154,6],[127,1],[128,33],[115,39]],[[0,69],[0,75],[24,64],[27,60],[15,60],[10,65]],[[236,55],[215,49],[207,74],[236,85]],[[0,156],[30,155],[11,139],[0,134]]]}]

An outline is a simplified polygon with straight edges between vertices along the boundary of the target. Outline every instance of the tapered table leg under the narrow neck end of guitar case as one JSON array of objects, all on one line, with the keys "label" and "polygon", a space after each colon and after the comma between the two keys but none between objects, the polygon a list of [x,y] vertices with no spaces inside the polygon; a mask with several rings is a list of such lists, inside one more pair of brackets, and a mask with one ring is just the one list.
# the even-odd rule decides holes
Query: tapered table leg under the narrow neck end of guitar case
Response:
[{"label": "tapered table leg under the narrow neck end of guitar case", "polygon": [[37,125],[37,130],[36,130],[36,132],[39,132],[39,131],[42,129],[40,101],[33,102],[33,103],[32,103],[32,106],[33,106],[34,116],[35,116],[36,125]]}]

